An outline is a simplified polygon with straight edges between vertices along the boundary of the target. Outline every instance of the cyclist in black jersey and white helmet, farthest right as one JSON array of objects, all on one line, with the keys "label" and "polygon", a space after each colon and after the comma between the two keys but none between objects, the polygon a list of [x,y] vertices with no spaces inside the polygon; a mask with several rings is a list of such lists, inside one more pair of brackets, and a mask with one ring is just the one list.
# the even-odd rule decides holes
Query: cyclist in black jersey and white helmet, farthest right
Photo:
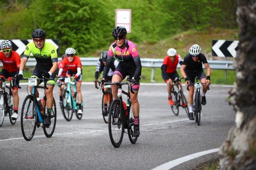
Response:
[{"label": "cyclist in black jersey and white helmet, farthest right", "polygon": [[[203,65],[207,70],[207,76],[204,73]],[[207,62],[204,54],[201,53],[201,47],[194,44],[189,49],[189,54],[184,58],[181,66],[182,76],[185,78],[185,85],[189,86],[188,103],[189,103],[189,119],[193,119],[193,95],[194,95],[194,83],[195,77],[197,76],[203,85],[202,93],[202,105],[206,104],[205,93],[208,90],[208,85],[211,84],[211,68]]]}]

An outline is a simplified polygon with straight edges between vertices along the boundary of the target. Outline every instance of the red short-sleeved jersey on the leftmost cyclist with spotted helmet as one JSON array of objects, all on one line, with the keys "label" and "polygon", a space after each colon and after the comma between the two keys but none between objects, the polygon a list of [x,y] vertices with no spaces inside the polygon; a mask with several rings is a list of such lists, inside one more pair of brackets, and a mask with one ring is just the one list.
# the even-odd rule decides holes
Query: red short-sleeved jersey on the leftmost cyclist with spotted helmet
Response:
[{"label": "red short-sleeved jersey on the leftmost cyclist with spotted helmet", "polygon": [[7,70],[8,72],[17,72],[21,64],[20,55],[15,51],[12,51],[12,54],[8,58],[1,51],[0,61],[3,63],[3,69]]}]

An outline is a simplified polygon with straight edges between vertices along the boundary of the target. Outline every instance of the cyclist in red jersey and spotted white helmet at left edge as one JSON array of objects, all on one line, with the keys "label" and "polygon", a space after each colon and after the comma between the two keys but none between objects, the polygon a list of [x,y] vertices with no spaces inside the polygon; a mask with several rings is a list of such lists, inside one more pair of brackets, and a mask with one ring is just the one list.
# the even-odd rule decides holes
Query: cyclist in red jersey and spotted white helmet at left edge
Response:
[{"label": "cyclist in red jersey and spotted white helmet at left edge", "polygon": [[[4,40],[0,43],[0,61],[3,63],[3,68],[0,72],[0,78],[9,78],[13,77],[19,71],[19,67],[21,64],[20,55],[13,51],[12,43],[9,40]],[[2,81],[0,81],[0,87],[2,88]],[[18,88],[12,88],[13,93],[13,105],[14,112],[11,116],[12,119],[18,118],[18,106],[19,106],[19,95]]]}]

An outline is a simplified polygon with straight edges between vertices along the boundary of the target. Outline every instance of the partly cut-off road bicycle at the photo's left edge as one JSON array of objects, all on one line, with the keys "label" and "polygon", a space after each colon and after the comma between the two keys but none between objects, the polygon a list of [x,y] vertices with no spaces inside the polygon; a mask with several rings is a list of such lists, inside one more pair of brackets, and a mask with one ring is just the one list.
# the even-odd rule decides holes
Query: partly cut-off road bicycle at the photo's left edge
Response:
[{"label": "partly cut-off road bicycle at the photo's left edge", "polygon": [[[2,88],[0,89],[0,127],[4,123],[4,116],[6,117],[9,115],[11,124],[16,123],[16,119],[11,118],[11,116],[13,115],[13,110],[14,110],[13,100],[12,100],[13,83],[12,83],[12,81],[10,81],[10,85],[8,86],[6,84],[6,82],[4,82],[4,81],[9,81],[10,79],[11,79],[11,77],[9,77],[8,79],[1,79],[1,81],[3,81],[3,82],[2,82]],[[5,88],[9,90],[9,93],[7,93],[5,91]]]}]

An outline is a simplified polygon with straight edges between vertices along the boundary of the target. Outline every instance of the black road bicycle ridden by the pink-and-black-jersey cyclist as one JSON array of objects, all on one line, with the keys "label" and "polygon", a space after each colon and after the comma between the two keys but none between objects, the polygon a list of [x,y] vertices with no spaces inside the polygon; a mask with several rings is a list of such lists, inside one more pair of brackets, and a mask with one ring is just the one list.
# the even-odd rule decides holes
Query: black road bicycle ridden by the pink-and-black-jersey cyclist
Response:
[{"label": "black road bicycle ridden by the pink-and-black-jersey cyclist", "polygon": [[[123,140],[125,129],[127,129],[129,140],[135,144],[138,137],[133,135],[134,116],[132,112],[132,103],[130,101],[130,93],[134,93],[131,88],[130,80],[127,82],[105,82],[104,85],[117,85],[118,93],[117,99],[113,100],[108,112],[108,133],[110,141],[115,148],[118,148]],[[127,92],[122,90],[122,85],[128,85]],[[100,85],[101,87],[101,85]],[[104,90],[104,89],[102,89]],[[127,96],[127,102],[123,102],[122,94]],[[127,109],[124,108],[127,107]]]}]

